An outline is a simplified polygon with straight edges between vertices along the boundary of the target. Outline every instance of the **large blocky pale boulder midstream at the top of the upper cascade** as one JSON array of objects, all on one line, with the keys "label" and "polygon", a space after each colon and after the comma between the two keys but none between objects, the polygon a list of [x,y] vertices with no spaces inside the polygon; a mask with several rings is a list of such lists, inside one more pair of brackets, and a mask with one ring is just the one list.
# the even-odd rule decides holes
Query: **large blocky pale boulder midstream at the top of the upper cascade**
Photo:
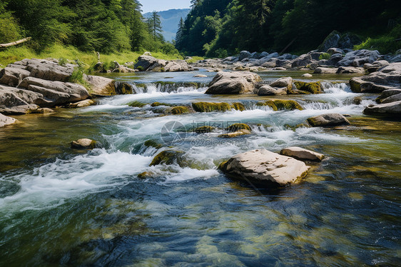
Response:
[{"label": "large blocky pale boulder midstream at the top of the upper cascade", "polygon": [[260,76],[252,72],[218,72],[205,94],[251,94],[259,81]]}]

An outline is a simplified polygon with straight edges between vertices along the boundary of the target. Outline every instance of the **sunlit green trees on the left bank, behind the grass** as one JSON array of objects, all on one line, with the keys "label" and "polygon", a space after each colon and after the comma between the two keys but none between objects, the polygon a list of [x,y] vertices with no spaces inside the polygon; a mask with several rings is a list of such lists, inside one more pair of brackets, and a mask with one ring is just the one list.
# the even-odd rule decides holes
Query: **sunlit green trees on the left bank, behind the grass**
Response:
[{"label": "sunlit green trees on the left bank, behind the grass", "polygon": [[[160,37],[158,14],[143,19],[138,0],[1,0],[0,43],[31,36],[29,46],[42,51],[54,44],[81,51],[168,51]],[[156,38],[157,37],[157,38]]]}]

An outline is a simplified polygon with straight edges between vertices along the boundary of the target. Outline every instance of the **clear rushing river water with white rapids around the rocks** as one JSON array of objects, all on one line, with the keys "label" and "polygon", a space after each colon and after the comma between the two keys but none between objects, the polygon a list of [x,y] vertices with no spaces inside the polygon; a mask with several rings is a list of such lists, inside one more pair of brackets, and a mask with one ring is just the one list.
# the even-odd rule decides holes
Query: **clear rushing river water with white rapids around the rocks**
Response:
[{"label": "clear rushing river water with white rapids around the rocks", "polygon": [[[138,94],[19,116],[0,129],[0,266],[398,266],[401,123],[362,115],[376,96],[353,94],[349,76],[320,76],[325,94],[275,97],[305,110],[272,111],[256,105],[268,97],[203,94],[214,75],[113,74]],[[161,116],[148,105],[156,101],[241,102],[246,110]],[[349,114],[352,126],[295,127],[330,112]],[[253,134],[218,138],[236,122]],[[203,125],[220,130],[191,131]],[[101,148],[71,151],[77,138]],[[149,167],[169,146],[185,151],[187,166]],[[288,146],[326,158],[300,183],[270,190],[217,170],[236,153]],[[152,177],[138,178],[144,171]]]}]

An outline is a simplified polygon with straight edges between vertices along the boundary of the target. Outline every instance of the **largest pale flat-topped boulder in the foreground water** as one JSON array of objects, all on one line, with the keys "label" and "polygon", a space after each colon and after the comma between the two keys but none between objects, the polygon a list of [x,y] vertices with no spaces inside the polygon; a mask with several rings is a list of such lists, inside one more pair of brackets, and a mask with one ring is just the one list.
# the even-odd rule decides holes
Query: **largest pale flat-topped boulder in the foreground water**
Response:
[{"label": "largest pale flat-topped boulder in the foreground water", "polygon": [[303,161],[266,149],[240,153],[222,165],[222,171],[227,176],[264,186],[295,183],[308,174],[309,168]]}]

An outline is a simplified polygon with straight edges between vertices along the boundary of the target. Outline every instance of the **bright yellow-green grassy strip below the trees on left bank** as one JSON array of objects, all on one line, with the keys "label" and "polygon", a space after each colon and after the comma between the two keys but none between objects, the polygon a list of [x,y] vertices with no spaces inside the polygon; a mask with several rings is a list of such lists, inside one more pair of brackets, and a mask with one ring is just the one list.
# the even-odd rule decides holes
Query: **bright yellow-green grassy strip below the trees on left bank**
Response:
[{"label": "bright yellow-green grassy strip below the trees on left bank", "polygon": [[[139,52],[122,52],[122,53],[115,53],[115,54],[101,54],[100,59],[102,62],[111,62],[117,61],[119,64],[124,64],[126,62],[135,62],[138,59],[138,56],[141,56],[143,53]],[[183,59],[183,56],[180,54],[168,55],[163,54],[161,52],[152,52],[152,56],[156,57],[157,59]],[[78,59],[83,64],[91,66],[96,64],[98,61],[97,55],[88,52],[82,52],[76,49],[73,46],[61,46],[61,45],[54,45],[51,46],[41,53],[35,53],[31,49],[27,48],[26,46],[18,46],[18,47],[10,47],[9,49],[2,49],[0,50],[0,67],[4,67],[7,64],[11,64],[15,61],[19,61],[21,59],[68,59],[68,60],[76,60]]]}]

